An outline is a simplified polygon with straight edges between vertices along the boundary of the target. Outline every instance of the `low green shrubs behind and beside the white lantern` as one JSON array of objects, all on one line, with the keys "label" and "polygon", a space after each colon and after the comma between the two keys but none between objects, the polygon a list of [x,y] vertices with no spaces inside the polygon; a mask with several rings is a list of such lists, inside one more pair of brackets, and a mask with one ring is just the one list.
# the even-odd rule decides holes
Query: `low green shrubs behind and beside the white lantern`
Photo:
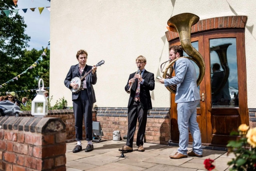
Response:
[{"label": "low green shrubs behind and beside the white lantern", "polygon": [[[52,97],[50,98],[50,101],[52,100]],[[49,101],[49,105],[48,105],[48,109],[49,110],[55,110],[55,109],[64,109],[65,107],[66,107],[66,105],[67,105],[67,101],[66,101],[66,99],[64,99],[64,97],[62,97],[62,98],[60,98],[60,99],[58,99],[57,101],[56,101],[56,103],[54,104],[54,106],[52,106],[51,107],[51,104],[50,104],[50,101]],[[20,105],[20,109],[22,110],[22,111],[31,111],[31,107],[32,107],[32,101],[31,100],[28,100],[27,101],[27,104],[26,104],[26,106],[24,106],[24,105]]]}]

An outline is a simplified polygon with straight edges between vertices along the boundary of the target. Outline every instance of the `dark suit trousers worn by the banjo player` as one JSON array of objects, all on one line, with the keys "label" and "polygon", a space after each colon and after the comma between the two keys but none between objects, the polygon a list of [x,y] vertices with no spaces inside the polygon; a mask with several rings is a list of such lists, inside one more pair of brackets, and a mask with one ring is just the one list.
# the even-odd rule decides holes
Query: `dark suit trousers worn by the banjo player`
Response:
[{"label": "dark suit trousers worn by the banjo player", "polygon": [[92,104],[87,89],[80,92],[78,99],[73,100],[76,141],[82,140],[83,119],[86,132],[86,140],[92,140]]}]

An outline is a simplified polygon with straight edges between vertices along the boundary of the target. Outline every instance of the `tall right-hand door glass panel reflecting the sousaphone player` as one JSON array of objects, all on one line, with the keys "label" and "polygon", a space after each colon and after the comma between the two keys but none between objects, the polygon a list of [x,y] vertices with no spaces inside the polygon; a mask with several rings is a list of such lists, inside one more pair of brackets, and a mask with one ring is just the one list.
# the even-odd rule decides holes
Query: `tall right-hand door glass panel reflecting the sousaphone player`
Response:
[{"label": "tall right-hand door glass panel reflecting the sousaphone player", "polygon": [[236,38],[210,39],[212,107],[238,107]]}]

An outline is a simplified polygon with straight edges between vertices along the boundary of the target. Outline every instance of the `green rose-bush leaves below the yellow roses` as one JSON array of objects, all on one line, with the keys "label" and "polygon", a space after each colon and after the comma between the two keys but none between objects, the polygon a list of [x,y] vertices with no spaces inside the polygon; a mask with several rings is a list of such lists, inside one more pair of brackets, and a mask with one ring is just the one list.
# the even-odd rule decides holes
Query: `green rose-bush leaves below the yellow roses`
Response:
[{"label": "green rose-bush leaves below the yellow roses", "polygon": [[[238,135],[238,133],[232,135]],[[232,166],[230,171],[255,171],[256,167],[256,149],[248,148],[246,132],[239,132],[241,138],[236,141],[230,141],[227,145],[229,147],[228,153],[234,153],[235,158],[228,162]]]}]

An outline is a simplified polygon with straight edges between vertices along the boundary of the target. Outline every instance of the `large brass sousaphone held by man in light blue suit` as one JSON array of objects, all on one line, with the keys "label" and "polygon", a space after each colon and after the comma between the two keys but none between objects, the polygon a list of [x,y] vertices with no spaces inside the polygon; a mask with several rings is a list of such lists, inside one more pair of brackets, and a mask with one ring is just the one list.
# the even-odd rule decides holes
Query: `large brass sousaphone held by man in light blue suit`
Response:
[{"label": "large brass sousaphone held by man in light blue suit", "polygon": [[[180,58],[188,58],[196,63],[196,65],[199,67],[199,76],[196,81],[197,86],[200,85],[204,78],[205,74],[205,64],[202,55],[191,45],[191,26],[196,24],[199,21],[199,17],[195,14],[191,13],[182,13],[178,14],[176,16],[173,16],[170,18],[167,22],[168,24],[168,30],[172,32],[178,32],[180,37],[180,45],[182,49],[188,54],[189,57],[180,57]],[[173,60],[170,62],[170,64],[166,67],[165,71],[163,72],[163,78],[166,78],[166,75],[168,73],[168,70],[170,69],[170,76],[172,76],[172,72],[174,68],[172,65],[176,60],[179,58]],[[168,62],[168,61],[167,61]],[[176,93],[176,85],[171,85],[166,87],[171,93]]]}]

